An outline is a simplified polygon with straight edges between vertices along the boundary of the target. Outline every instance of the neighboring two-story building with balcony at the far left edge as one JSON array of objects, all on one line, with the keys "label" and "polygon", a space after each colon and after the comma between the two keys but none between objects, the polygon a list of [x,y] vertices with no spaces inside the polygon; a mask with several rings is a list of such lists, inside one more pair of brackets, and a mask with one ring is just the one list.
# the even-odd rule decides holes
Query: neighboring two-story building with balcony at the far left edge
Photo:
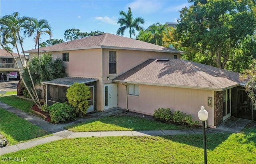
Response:
[{"label": "neighboring two-story building with balcony at the far left edge", "polygon": [[[18,65],[15,63],[12,55],[18,62]],[[26,58],[21,55],[20,60],[17,53],[12,52],[12,55],[3,49],[0,49],[0,72],[4,73],[4,75],[6,75],[7,72],[18,72],[18,67],[22,68],[21,71],[23,72],[22,62],[25,64]]]}]

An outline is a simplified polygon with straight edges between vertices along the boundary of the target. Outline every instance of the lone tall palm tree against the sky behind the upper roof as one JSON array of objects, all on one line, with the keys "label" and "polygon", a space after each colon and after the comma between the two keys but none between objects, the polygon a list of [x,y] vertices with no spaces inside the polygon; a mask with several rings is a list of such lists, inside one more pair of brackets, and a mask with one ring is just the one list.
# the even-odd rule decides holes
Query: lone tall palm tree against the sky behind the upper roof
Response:
[{"label": "lone tall palm tree against the sky behind the upper roof", "polygon": [[124,30],[129,29],[130,38],[132,38],[132,34],[135,36],[135,30],[140,31],[143,30],[143,27],[141,27],[139,24],[144,24],[145,21],[143,18],[138,17],[134,18],[132,17],[132,11],[131,8],[128,7],[128,12],[125,13],[124,11],[120,11],[119,15],[122,16],[121,18],[118,18],[118,22],[120,24],[120,27],[118,28],[116,34],[118,35],[124,35]]}]

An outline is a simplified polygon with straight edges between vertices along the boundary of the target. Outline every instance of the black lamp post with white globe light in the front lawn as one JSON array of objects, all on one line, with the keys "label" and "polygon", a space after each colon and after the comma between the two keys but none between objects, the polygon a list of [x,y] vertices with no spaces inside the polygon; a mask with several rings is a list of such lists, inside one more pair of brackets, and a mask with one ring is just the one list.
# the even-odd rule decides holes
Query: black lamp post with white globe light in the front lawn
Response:
[{"label": "black lamp post with white globe light in the front lawn", "polygon": [[203,123],[203,140],[204,140],[204,164],[207,164],[207,154],[206,154],[206,135],[205,135],[205,121],[208,119],[208,112],[202,106],[200,111],[198,111],[198,118]]}]

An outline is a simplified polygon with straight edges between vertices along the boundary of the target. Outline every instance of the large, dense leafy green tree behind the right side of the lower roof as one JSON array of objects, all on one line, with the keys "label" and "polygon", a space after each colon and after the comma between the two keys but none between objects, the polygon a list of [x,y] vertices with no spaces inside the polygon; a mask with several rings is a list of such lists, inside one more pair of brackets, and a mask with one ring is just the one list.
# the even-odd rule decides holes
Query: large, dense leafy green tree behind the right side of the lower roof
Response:
[{"label": "large, dense leafy green tree behind the right side of the lower roof", "polygon": [[[189,47],[204,54],[225,68],[233,60],[235,49],[256,27],[253,0],[210,0],[180,11],[175,40],[181,47]],[[251,54],[250,54],[251,55]]]}]

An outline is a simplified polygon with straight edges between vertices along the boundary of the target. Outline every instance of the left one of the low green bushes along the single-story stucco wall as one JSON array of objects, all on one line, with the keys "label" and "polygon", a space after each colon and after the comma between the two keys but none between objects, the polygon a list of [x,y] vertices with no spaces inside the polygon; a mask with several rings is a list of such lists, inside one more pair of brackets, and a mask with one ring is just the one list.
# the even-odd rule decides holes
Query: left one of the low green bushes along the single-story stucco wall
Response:
[{"label": "left one of the low green bushes along the single-story stucco wall", "polygon": [[153,116],[158,120],[170,122],[173,117],[173,112],[170,108],[158,108],[154,111]]}]

